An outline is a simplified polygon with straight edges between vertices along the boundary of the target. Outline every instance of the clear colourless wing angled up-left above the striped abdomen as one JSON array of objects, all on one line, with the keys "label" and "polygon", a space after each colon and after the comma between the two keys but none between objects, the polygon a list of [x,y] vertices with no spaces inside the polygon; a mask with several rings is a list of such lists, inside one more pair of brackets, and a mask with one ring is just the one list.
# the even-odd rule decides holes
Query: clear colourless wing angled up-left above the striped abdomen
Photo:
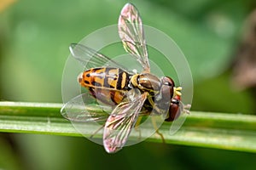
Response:
[{"label": "clear colourless wing angled up-left above the striped abdomen", "polygon": [[124,65],[120,65],[117,62],[114,62],[112,59],[109,59],[107,56],[96,52],[92,48],[88,48],[79,43],[72,43],[69,46],[69,50],[73,57],[79,60],[82,65],[85,66],[85,69],[96,68],[104,66],[112,66],[116,68],[121,68],[125,71],[128,69]]}]

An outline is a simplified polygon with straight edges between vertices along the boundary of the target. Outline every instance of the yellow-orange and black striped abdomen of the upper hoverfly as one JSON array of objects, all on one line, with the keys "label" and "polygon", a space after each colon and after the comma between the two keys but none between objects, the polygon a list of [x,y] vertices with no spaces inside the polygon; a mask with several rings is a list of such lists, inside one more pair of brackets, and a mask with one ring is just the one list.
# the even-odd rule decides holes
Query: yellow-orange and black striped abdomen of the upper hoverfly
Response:
[{"label": "yellow-orange and black striped abdomen of the upper hoverfly", "polygon": [[105,88],[129,90],[131,75],[119,68],[91,68],[79,76],[79,83],[84,88]]}]

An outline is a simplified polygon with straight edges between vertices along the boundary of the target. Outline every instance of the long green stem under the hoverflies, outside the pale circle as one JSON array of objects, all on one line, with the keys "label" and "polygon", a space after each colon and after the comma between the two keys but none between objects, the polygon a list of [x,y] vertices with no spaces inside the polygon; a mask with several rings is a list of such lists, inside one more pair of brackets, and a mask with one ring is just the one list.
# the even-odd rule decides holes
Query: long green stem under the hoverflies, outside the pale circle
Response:
[{"label": "long green stem under the hoverflies, outside the pale circle", "polygon": [[[61,116],[61,106],[0,102],[0,132],[82,136],[71,122]],[[256,153],[256,116],[191,111],[177,133],[170,135],[170,126],[171,123],[167,122],[160,127],[166,144]],[[151,136],[148,141],[162,142],[157,134]]]}]

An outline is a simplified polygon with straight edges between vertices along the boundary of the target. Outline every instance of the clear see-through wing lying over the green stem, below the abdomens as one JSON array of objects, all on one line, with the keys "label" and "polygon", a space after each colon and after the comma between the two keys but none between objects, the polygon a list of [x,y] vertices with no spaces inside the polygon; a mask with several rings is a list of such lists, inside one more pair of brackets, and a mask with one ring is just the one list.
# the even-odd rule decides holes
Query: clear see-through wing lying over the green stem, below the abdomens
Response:
[{"label": "clear see-through wing lying over the green stem, below the abdomens", "polygon": [[61,115],[73,122],[105,122],[112,108],[98,104],[90,94],[80,94],[61,108]]}]

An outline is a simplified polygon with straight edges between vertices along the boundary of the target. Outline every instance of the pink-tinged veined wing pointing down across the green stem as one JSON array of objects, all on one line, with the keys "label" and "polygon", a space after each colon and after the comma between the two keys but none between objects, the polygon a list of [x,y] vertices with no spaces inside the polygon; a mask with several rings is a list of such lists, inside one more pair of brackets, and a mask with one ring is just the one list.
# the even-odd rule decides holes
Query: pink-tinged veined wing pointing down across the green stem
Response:
[{"label": "pink-tinged veined wing pointing down across the green stem", "polygon": [[146,93],[135,93],[132,99],[117,105],[108,117],[103,133],[103,144],[108,153],[117,152],[125,145],[145,99]]}]

